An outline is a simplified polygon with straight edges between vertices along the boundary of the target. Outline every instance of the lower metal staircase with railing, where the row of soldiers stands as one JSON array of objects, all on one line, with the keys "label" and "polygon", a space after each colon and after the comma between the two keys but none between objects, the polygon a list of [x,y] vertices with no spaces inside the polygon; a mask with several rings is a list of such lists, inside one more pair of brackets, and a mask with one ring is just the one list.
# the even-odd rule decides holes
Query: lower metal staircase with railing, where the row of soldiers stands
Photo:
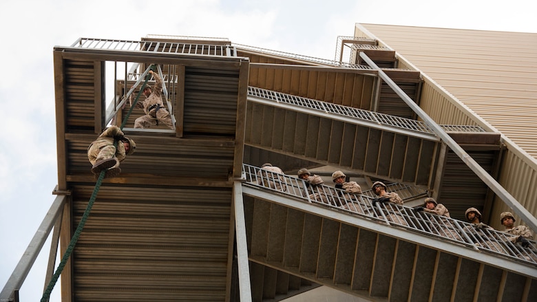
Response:
[{"label": "lower metal staircase with railing, where the row of soldiers stands", "polygon": [[[465,222],[436,220],[404,206],[381,210],[408,222],[390,224],[375,214],[379,211],[308,200],[293,189],[302,180],[284,177],[288,189],[278,192],[258,184],[258,168],[245,166],[245,171],[251,262],[375,301],[529,301],[537,294],[536,250],[519,250],[503,233],[476,239],[465,233],[473,230]],[[368,197],[358,200],[357,208],[371,205]],[[442,220],[461,237],[432,232],[447,226]],[[487,242],[503,246],[502,252]]]}]

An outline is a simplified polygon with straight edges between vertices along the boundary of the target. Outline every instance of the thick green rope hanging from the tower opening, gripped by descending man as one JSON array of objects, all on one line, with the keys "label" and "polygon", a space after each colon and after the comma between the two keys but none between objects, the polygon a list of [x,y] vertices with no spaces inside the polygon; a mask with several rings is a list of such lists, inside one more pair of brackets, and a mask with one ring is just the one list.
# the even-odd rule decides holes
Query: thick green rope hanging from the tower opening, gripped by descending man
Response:
[{"label": "thick green rope hanging from the tower opening, gripped by descending man", "polygon": [[[151,68],[153,65],[149,66]],[[147,84],[147,81],[151,78],[151,74],[147,74],[145,78],[145,82],[142,85],[142,88],[140,91],[138,91],[138,95],[136,96],[136,100],[134,100],[134,104],[131,105],[131,108],[129,109],[129,112],[123,119],[123,122],[121,123],[120,129],[123,130],[123,127],[125,127],[125,123],[127,123],[127,120],[129,119],[129,116],[131,115],[132,109],[138,102],[138,98],[140,98],[140,94],[143,92],[143,89],[145,85]],[[117,147],[118,142],[114,141],[114,147]],[[50,294],[52,293],[52,289],[54,289],[54,285],[56,285],[56,282],[58,281],[58,278],[60,277],[61,272],[63,271],[63,268],[65,267],[65,264],[67,263],[67,260],[69,260],[69,257],[71,256],[71,253],[74,249],[74,246],[76,244],[76,241],[78,241],[78,237],[80,237],[82,233],[82,229],[84,228],[84,225],[86,224],[87,217],[89,217],[89,212],[92,211],[92,206],[95,202],[95,199],[97,198],[97,193],[99,189],[101,188],[101,184],[103,183],[103,179],[105,178],[106,170],[101,171],[99,174],[99,177],[97,179],[97,182],[95,184],[95,188],[92,193],[92,197],[89,198],[89,202],[87,203],[86,209],[84,211],[84,215],[82,215],[81,221],[78,223],[78,226],[76,227],[76,230],[74,231],[74,235],[71,238],[71,241],[69,243],[69,246],[67,246],[67,250],[65,250],[65,253],[63,254],[63,257],[61,258],[60,264],[58,268],[56,268],[56,272],[54,272],[54,275],[52,276],[52,279],[47,285],[47,289],[45,292],[43,292],[43,296],[41,297],[41,302],[48,302],[50,299]]]}]

